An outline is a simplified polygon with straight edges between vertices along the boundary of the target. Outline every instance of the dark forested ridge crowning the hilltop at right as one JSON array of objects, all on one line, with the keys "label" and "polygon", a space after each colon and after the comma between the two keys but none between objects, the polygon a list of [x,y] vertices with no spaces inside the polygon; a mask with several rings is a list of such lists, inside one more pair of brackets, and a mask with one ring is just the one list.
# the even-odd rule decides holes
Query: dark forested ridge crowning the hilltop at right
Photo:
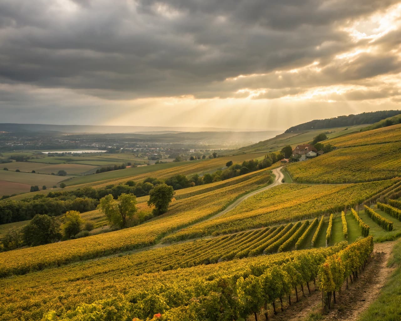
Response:
[{"label": "dark forested ridge crowning the hilltop at right", "polygon": [[383,110],[379,112],[364,112],[362,114],[356,115],[351,114],[348,116],[311,120],[310,122],[292,126],[288,128],[284,133],[296,132],[299,130],[373,124],[375,122],[379,122],[382,119],[393,117],[398,114],[401,114],[401,110]]}]

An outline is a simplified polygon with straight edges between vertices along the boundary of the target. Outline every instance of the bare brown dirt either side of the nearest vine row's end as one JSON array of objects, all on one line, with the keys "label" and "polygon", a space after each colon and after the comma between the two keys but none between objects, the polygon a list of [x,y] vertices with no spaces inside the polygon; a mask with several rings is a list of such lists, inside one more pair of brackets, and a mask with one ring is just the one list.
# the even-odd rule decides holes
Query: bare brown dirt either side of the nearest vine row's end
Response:
[{"label": "bare brown dirt either side of the nearest vine row's end", "polygon": [[[360,314],[377,299],[380,289],[395,269],[394,267],[387,267],[387,262],[395,243],[396,241],[375,244],[372,258],[365,271],[358,275],[358,279],[354,283],[349,284],[348,290],[346,290],[346,284],[342,286],[341,295],[336,294],[337,303],[332,307],[330,313],[324,317],[324,320],[358,320]],[[301,293],[298,303],[293,303],[284,312],[272,315],[269,320],[301,321],[312,312],[321,312],[321,293],[320,291],[313,291],[312,288],[313,284],[311,295],[306,294],[306,298],[304,298]],[[306,293],[308,292],[306,288],[304,290]],[[292,297],[292,300],[295,301],[295,298]]]}]

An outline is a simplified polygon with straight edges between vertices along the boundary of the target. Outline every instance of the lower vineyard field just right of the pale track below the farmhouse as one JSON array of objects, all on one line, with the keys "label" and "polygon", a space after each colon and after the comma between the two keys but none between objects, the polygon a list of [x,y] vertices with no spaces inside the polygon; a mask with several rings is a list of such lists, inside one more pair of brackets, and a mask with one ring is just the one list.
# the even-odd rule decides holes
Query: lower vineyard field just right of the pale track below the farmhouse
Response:
[{"label": "lower vineyard field just right of the pale track below the farmhouse", "polygon": [[298,183],[359,183],[401,176],[399,142],[338,148],[287,171]]}]

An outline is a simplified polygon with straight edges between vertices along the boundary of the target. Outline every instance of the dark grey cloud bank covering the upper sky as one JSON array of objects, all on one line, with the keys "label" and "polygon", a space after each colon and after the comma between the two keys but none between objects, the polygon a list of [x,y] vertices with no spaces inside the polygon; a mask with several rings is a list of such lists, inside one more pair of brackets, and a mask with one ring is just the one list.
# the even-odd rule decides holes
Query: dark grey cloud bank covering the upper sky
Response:
[{"label": "dark grey cloud bank covering the upper sky", "polygon": [[[339,28],[395,1],[22,1],[0,2],[0,82],[74,89],[108,99],[230,97],[241,74],[302,67],[322,75],[267,77],[249,87],[294,92],[302,81],[355,81],[399,70],[395,56],[330,65],[359,43]],[[389,41],[396,41],[391,38]],[[260,79],[259,79],[260,80]],[[280,85],[281,84],[281,85]],[[295,90],[296,91],[296,90]]]}]

